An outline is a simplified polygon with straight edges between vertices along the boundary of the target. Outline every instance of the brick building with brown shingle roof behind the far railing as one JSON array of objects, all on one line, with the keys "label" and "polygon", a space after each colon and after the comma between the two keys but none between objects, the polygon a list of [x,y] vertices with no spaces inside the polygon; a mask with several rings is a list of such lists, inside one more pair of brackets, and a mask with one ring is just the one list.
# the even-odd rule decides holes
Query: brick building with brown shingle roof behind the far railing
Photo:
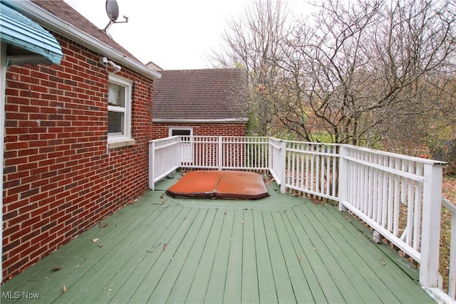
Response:
[{"label": "brick building with brown shingle roof behind the far railing", "polygon": [[[147,66],[157,68],[149,63]],[[247,70],[159,70],[154,82],[153,137],[245,136]]]}]

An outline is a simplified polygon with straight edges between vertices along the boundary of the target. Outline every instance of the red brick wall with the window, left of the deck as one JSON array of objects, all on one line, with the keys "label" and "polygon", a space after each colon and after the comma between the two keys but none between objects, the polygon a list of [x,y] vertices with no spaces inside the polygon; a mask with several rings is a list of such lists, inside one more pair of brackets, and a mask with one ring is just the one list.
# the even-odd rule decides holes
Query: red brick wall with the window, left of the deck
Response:
[{"label": "red brick wall with the window, left of the deck", "polygon": [[6,73],[4,280],[48,255],[147,190],[152,80],[134,80],[135,145],[108,150],[108,73],[103,54],[55,35],[61,65]]}]

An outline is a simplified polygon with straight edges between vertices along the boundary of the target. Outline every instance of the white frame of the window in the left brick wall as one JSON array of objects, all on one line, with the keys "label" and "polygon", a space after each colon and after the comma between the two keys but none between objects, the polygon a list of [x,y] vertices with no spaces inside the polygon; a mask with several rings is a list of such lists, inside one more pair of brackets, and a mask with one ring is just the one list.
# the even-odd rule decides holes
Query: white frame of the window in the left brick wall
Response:
[{"label": "white frame of the window in the left brick wall", "polygon": [[123,113],[123,134],[108,133],[108,147],[114,148],[134,145],[134,140],[131,137],[131,94],[133,88],[133,81],[115,75],[113,73],[109,74],[108,81],[109,83],[115,83],[116,85],[121,85],[125,88],[125,106],[121,108],[113,105],[108,105],[108,112]]}]

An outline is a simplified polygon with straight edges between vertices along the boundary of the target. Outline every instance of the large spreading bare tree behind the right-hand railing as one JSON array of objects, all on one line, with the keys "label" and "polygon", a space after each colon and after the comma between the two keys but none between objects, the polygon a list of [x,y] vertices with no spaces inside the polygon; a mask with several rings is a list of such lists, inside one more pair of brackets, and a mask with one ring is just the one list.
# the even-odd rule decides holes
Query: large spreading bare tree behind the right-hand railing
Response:
[{"label": "large spreading bare tree behind the right-hand railing", "polygon": [[306,101],[333,142],[373,145],[438,108],[427,80],[455,51],[444,4],[324,1],[314,20],[318,30],[295,49],[309,68]]}]

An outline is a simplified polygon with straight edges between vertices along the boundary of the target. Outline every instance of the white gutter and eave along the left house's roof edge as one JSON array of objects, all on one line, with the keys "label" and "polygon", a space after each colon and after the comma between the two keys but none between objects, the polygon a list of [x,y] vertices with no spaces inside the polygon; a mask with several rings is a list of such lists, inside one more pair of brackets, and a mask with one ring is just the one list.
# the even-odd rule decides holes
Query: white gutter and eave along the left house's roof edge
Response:
[{"label": "white gutter and eave along the left house's roof edge", "polygon": [[24,14],[24,16],[27,16],[33,21],[40,23],[41,26],[48,28],[50,31],[71,38],[71,40],[81,43],[81,45],[110,58],[110,60],[116,61],[120,65],[124,65],[148,78],[161,78],[160,73],[157,73],[155,70],[151,70],[142,63],[138,63],[132,58],[124,56],[123,53],[115,50],[115,48],[93,38],[93,36],[84,33],[70,23],[50,14],[48,11],[41,9],[41,7],[30,1],[4,0],[4,2],[13,9],[16,9],[16,11]]}]

